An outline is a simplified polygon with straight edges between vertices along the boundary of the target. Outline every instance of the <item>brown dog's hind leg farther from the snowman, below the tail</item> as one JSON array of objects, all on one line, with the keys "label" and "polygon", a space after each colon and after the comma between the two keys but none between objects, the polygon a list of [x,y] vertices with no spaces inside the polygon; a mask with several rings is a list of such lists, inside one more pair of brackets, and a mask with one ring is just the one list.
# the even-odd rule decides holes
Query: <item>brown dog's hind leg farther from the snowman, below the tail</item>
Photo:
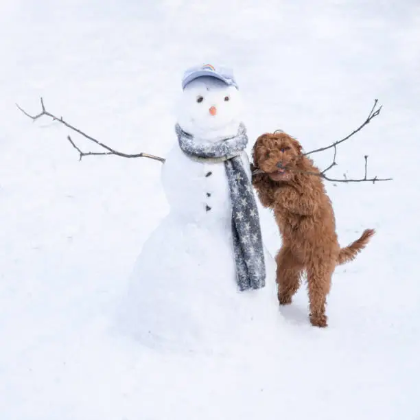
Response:
[{"label": "brown dog's hind leg farther from the snowman, below the tail", "polygon": [[325,305],[327,294],[331,288],[331,276],[334,272],[334,264],[320,262],[316,266],[308,267],[307,288],[310,298],[310,321],[316,327],[327,327]]}]

